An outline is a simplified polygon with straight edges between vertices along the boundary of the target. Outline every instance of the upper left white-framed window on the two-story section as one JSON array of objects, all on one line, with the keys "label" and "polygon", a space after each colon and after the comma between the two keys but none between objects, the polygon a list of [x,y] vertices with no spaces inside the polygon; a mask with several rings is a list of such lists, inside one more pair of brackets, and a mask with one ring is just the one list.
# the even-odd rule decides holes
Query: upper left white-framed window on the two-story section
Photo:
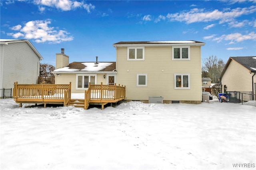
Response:
[{"label": "upper left white-framed window on the two-story section", "polygon": [[127,60],[144,60],[144,47],[128,47]]}]

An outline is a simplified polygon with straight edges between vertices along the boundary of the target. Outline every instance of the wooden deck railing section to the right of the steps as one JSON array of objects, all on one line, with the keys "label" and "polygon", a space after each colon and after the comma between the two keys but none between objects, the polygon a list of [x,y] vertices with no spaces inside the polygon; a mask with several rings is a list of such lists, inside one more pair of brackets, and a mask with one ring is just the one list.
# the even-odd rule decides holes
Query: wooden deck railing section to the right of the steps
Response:
[{"label": "wooden deck railing section to the right of the steps", "polygon": [[90,103],[99,103],[104,107],[106,103],[116,103],[125,99],[125,86],[119,85],[91,85],[84,92],[84,109],[88,109]]}]

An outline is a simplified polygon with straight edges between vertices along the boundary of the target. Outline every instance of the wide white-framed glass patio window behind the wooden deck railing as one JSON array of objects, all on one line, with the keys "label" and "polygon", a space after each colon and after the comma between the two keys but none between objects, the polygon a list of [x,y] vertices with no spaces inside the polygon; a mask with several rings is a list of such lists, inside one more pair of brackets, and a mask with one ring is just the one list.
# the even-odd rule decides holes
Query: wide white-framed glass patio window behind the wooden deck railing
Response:
[{"label": "wide white-framed glass patio window behind the wooden deck railing", "polygon": [[96,74],[77,74],[76,75],[76,89],[87,89],[89,82],[92,85],[96,84]]}]

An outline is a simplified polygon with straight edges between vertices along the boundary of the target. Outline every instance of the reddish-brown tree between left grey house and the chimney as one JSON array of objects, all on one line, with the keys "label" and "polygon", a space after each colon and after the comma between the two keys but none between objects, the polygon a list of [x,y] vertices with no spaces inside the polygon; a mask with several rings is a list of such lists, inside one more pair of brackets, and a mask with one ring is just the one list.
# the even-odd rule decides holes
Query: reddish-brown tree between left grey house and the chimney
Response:
[{"label": "reddish-brown tree between left grey house and the chimney", "polygon": [[50,64],[40,63],[40,73],[38,77],[38,84],[46,83],[46,84],[54,84],[55,83],[55,75],[51,73],[54,71],[55,67]]}]

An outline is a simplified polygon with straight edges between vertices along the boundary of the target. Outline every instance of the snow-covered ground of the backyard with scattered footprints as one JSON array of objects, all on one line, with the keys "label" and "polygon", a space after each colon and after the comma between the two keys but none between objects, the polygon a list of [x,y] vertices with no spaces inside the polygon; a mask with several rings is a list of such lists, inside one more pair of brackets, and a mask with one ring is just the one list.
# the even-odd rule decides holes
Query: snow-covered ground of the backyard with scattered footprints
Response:
[{"label": "snow-covered ground of the backyard with scattered footprints", "polygon": [[129,102],[104,110],[28,106],[0,100],[1,170],[256,166],[255,106],[220,102]]}]

